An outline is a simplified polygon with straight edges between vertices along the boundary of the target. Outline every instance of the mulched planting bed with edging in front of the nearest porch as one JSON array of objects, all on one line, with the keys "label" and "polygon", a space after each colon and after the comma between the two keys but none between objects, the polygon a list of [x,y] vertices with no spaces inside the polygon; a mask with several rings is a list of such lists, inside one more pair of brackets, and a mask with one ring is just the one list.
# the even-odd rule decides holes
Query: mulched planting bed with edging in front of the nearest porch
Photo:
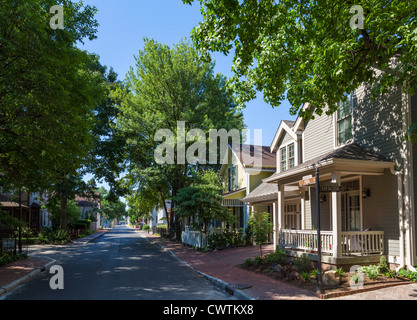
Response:
[{"label": "mulched planting bed with edging in front of the nearest porch", "polygon": [[286,280],[285,278],[282,278],[278,272],[272,270],[269,265],[246,266],[244,264],[240,264],[238,265],[238,267],[243,268],[248,271],[261,273],[276,281],[285,282],[286,284],[294,285],[299,288],[314,292],[321,299],[341,297],[341,296],[351,295],[355,293],[366,292],[366,291],[377,290],[377,289],[405,285],[405,284],[411,283],[410,280],[403,278],[403,277],[399,277],[399,276],[395,278],[389,278],[389,277],[380,275],[377,279],[371,280],[366,275],[364,275],[363,287],[355,287],[355,286],[352,287],[350,285],[350,277],[352,273],[345,272],[341,278],[341,283],[339,285],[336,285],[333,287],[326,287],[323,285],[322,293],[319,294],[317,293],[317,280],[314,278],[311,278],[310,281],[305,281],[300,278],[297,280]]}]

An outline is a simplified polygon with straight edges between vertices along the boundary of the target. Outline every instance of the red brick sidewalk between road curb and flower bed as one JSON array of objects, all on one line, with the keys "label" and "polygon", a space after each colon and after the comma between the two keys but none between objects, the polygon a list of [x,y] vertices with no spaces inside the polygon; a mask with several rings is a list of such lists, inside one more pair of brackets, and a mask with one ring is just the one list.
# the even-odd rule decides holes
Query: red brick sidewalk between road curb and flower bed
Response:
[{"label": "red brick sidewalk between road curb and flower bed", "polygon": [[[283,282],[271,281],[268,276],[237,267],[246,258],[259,255],[258,246],[201,252],[179,242],[169,241],[143,231],[138,232],[141,236],[170,250],[179,259],[202,273],[223,280],[230,285],[252,285],[251,288],[242,291],[256,300],[318,300],[316,295],[310,291]],[[268,253],[272,250],[273,245],[265,245],[262,252]]]}]

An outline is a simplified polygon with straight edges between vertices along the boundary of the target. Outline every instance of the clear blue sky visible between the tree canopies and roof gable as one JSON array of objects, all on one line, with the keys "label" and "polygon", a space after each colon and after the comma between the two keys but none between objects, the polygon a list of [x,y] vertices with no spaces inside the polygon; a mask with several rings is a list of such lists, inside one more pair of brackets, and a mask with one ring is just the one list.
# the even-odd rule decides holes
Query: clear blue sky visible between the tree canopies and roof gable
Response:
[{"label": "clear blue sky visible between the tree canopies and roof gable", "polygon": [[[84,0],[84,4],[98,9],[100,24],[98,39],[87,41],[82,48],[97,53],[102,64],[112,66],[123,80],[134,66],[134,55],[143,47],[143,38],[172,45],[190,32],[201,20],[199,2],[192,6],[181,0]],[[215,71],[231,76],[232,56],[213,54]],[[243,110],[245,123],[253,137],[255,129],[262,129],[264,145],[270,145],[281,120],[293,120],[289,104],[272,108],[262,98],[247,104]]]}]

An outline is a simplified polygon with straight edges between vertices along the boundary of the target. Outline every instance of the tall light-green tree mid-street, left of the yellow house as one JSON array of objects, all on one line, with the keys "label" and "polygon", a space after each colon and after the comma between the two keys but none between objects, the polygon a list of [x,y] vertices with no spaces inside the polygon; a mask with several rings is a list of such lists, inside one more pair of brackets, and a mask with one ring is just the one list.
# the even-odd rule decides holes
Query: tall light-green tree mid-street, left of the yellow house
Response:
[{"label": "tall light-green tree mid-street, left of the yellow house", "polygon": [[[198,128],[208,139],[210,129],[240,131],[244,128],[243,116],[226,88],[226,78],[215,75],[213,63],[203,61],[187,41],[169,47],[145,39],[144,49],[135,58],[136,67],[128,73],[125,87],[116,90],[116,98],[121,101],[117,127],[127,141],[127,179],[130,178],[131,190],[141,190],[150,183],[144,182],[144,170],[153,168],[153,175],[159,179],[153,179],[151,184],[168,189],[162,194],[175,198],[179,189],[189,185],[190,168],[199,165],[177,161],[177,144],[173,146],[174,164],[157,163],[154,153],[160,144],[155,139],[158,130],[169,130],[177,139],[178,122],[183,121],[185,132]],[[192,143],[188,141],[185,149]],[[175,202],[172,207],[171,226]]]}]

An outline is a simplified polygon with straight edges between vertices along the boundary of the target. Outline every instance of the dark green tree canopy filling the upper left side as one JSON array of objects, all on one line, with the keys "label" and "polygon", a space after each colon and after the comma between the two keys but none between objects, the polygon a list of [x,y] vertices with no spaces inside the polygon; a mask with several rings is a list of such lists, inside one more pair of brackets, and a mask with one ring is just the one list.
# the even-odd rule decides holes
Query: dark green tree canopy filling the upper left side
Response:
[{"label": "dark green tree canopy filling the upper left side", "polygon": [[[50,8],[64,8],[64,29]],[[103,90],[91,56],[95,8],[69,0],[0,2],[0,172],[31,190],[77,169],[90,148],[92,108]]]}]

